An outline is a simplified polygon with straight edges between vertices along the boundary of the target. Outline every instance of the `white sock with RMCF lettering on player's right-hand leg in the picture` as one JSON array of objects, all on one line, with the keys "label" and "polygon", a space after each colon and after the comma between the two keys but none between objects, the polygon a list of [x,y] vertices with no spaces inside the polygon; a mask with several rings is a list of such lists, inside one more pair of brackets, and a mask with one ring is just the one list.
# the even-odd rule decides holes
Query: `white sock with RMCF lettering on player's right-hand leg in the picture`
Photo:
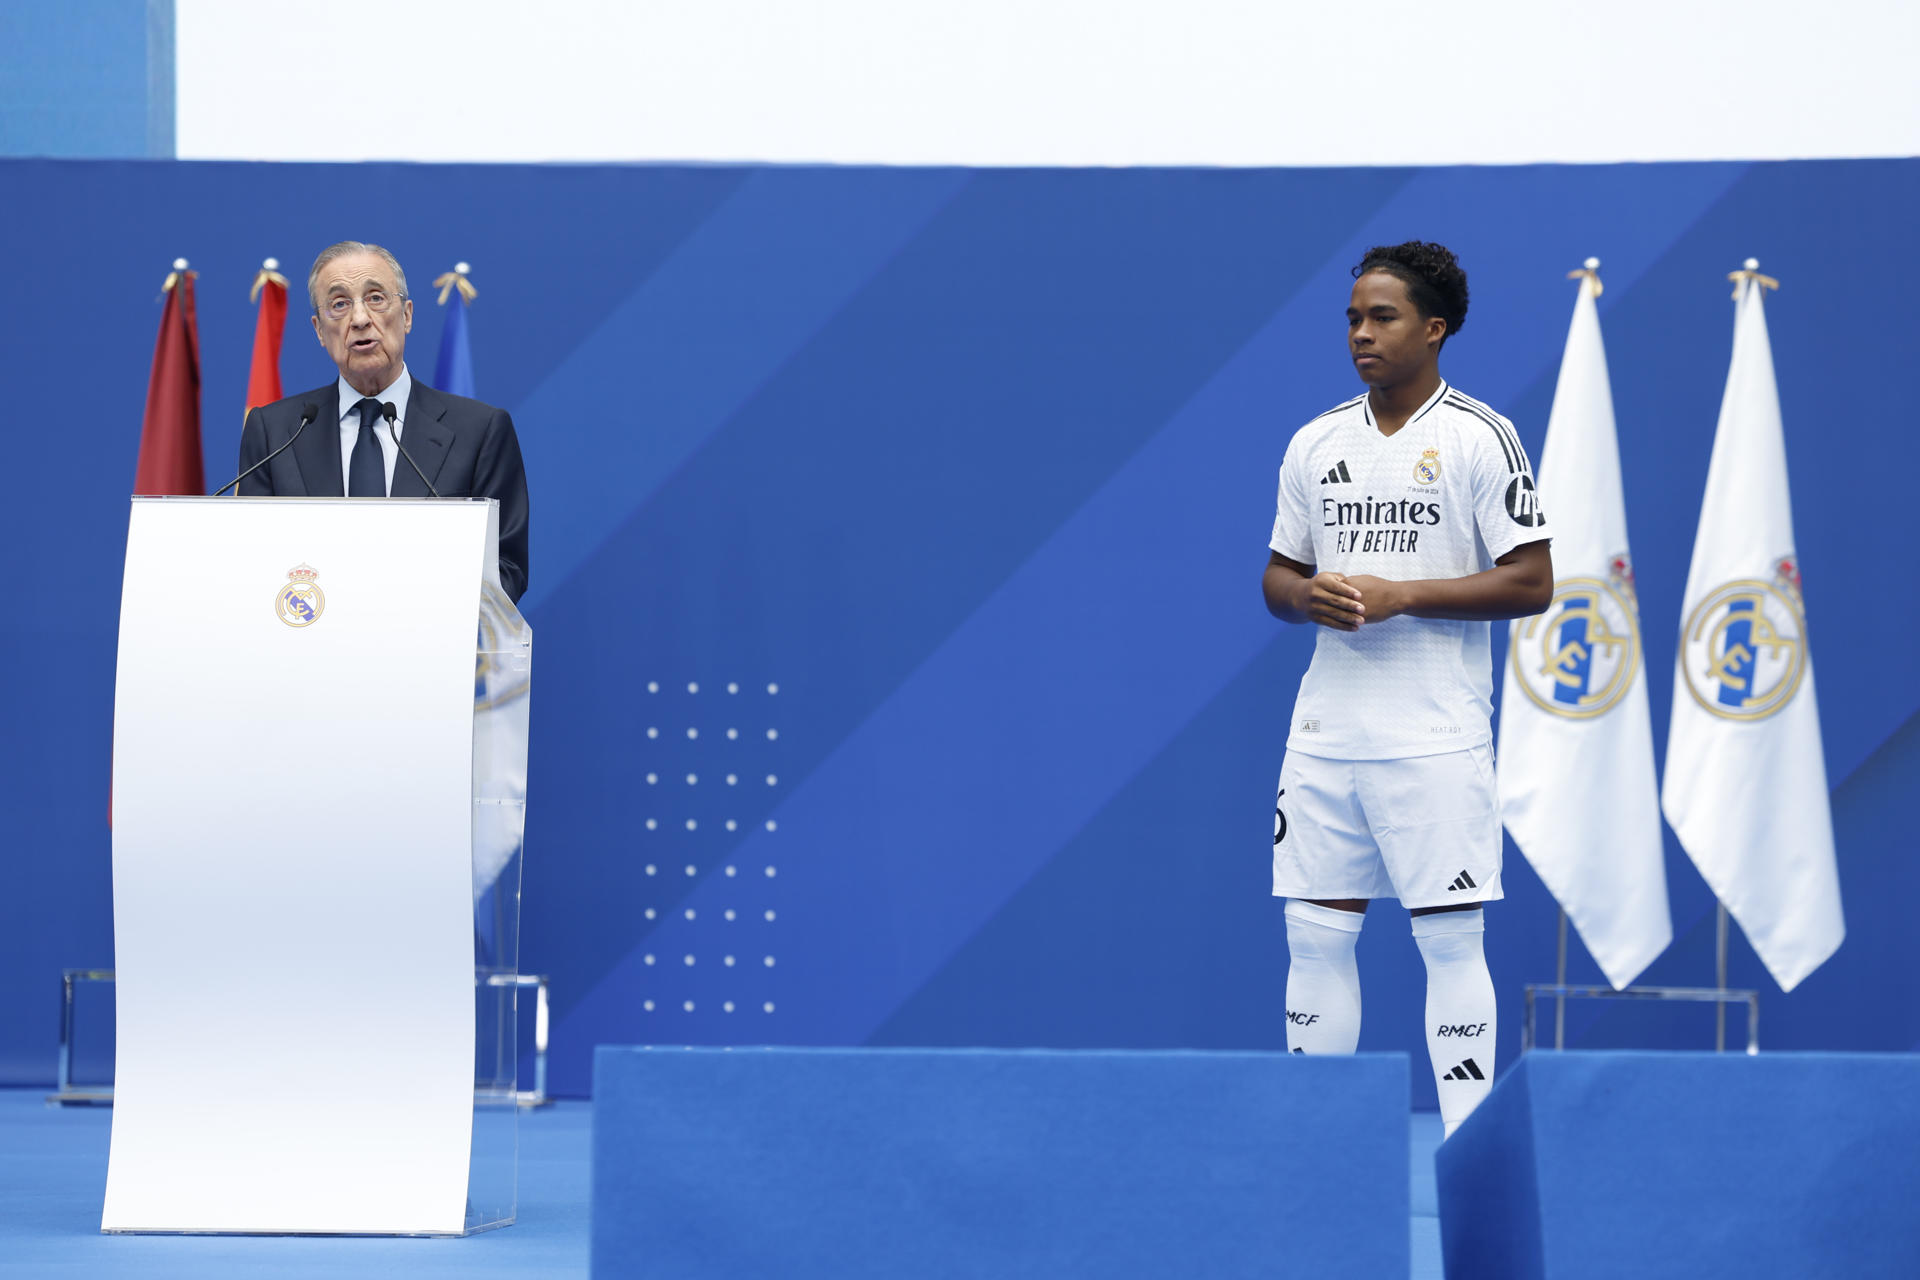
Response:
[{"label": "white sock with RMCF lettering on player's right-hand leg in the picture", "polygon": [[1427,961],[1427,1054],[1448,1138],[1494,1088],[1494,979],[1480,946],[1482,917],[1478,910],[1413,917]]}]

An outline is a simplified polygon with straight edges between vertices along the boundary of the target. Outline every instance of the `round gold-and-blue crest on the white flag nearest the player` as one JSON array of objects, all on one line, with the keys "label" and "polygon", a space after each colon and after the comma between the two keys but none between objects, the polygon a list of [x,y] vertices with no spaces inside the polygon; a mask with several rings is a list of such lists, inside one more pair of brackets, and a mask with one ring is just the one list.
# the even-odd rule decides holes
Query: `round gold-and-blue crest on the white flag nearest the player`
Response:
[{"label": "round gold-and-blue crest on the white flag nearest the player", "polygon": [[1544,614],[1521,622],[1509,649],[1513,676],[1542,710],[1592,720],[1619,706],[1640,670],[1640,606],[1626,553],[1607,581],[1563,578]]}]

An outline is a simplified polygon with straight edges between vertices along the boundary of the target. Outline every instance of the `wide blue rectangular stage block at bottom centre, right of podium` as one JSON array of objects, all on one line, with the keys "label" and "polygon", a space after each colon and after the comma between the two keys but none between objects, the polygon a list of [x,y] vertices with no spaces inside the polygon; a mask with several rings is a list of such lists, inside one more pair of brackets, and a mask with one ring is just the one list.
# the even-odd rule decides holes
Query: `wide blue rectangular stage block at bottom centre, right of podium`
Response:
[{"label": "wide blue rectangular stage block at bottom centre, right of podium", "polygon": [[593,1274],[1405,1276],[1407,1059],[601,1046]]}]

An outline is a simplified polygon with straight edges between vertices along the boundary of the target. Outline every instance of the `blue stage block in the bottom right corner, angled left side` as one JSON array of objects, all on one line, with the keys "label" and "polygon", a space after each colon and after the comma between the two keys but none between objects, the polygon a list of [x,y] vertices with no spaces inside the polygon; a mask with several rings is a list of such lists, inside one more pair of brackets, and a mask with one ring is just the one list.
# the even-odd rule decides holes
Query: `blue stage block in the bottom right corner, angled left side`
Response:
[{"label": "blue stage block in the bottom right corner, angled left side", "polygon": [[1920,1057],[1528,1054],[1438,1153],[1448,1276],[1920,1276]]}]

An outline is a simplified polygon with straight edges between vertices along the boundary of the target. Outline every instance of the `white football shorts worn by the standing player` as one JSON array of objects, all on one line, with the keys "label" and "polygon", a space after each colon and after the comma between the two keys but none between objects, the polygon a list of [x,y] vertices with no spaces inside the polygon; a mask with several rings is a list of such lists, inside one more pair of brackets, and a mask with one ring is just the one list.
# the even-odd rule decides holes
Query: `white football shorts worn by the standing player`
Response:
[{"label": "white football shorts worn by the standing player", "polygon": [[1490,745],[1407,760],[1281,764],[1275,898],[1400,898],[1405,908],[1503,898]]}]

